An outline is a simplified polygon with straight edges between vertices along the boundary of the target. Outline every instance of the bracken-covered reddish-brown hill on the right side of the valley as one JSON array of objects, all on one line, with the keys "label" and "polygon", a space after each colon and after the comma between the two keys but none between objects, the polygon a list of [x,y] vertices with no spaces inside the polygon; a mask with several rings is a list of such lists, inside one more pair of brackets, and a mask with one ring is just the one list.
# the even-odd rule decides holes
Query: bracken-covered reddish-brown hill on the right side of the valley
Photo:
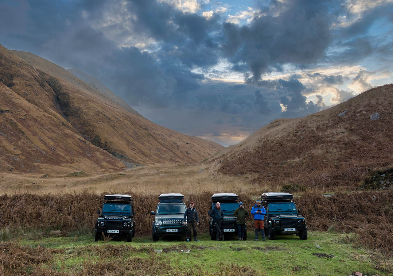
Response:
[{"label": "bracken-covered reddish-brown hill on the right side of the valley", "polygon": [[392,84],[373,88],[307,117],[271,122],[215,160],[224,174],[253,174],[254,183],[283,191],[354,188],[393,165],[392,106]]}]

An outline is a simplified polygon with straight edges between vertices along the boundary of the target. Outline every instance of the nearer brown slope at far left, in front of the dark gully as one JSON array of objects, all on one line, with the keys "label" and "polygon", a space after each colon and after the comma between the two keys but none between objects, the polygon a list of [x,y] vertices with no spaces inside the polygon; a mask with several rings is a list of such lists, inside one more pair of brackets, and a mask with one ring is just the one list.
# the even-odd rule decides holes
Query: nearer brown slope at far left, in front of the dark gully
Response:
[{"label": "nearer brown slope at far left, in front of the dark gully", "polygon": [[125,166],[59,113],[55,93],[30,64],[0,45],[0,172],[104,173]]}]

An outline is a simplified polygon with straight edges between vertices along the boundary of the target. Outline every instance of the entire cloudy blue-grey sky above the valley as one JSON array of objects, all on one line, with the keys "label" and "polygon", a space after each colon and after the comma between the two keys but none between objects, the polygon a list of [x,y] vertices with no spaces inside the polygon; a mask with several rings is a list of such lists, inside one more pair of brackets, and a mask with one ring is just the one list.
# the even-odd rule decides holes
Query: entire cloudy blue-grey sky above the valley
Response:
[{"label": "entire cloudy blue-grey sky above the valley", "polygon": [[393,81],[393,0],[0,0],[0,44],[223,146]]}]

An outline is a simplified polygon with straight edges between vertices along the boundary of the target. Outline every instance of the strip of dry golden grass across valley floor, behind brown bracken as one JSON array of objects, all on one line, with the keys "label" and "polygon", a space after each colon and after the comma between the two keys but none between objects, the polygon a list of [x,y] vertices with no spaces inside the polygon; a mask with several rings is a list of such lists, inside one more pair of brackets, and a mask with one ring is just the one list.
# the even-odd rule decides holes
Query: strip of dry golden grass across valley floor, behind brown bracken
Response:
[{"label": "strip of dry golden grass across valley floor, behind brown bracken", "polygon": [[[217,165],[215,165],[217,166]],[[215,166],[154,165],[129,169],[120,173],[90,177],[46,177],[41,174],[0,174],[0,194],[66,194],[70,192],[132,192],[160,194],[181,192],[239,192],[261,194],[272,189],[251,183],[254,175],[230,176],[217,173]],[[202,172],[199,172],[203,169]],[[4,176],[4,178],[2,178]],[[279,189],[279,186],[273,188]]]}]

